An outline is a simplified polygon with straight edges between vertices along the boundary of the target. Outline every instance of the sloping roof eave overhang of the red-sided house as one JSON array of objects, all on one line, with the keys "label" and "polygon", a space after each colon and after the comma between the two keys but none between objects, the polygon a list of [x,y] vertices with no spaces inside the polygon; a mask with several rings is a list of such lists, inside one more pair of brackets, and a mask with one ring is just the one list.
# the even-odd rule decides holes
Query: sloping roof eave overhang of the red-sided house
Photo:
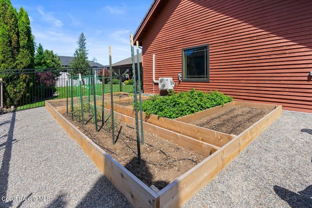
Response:
[{"label": "sloping roof eave overhang of the red-sided house", "polygon": [[160,12],[164,8],[166,2],[167,2],[166,0],[154,0],[153,1],[149,10],[147,11],[146,15],[144,16],[143,20],[138,26],[137,31],[134,34],[134,38],[133,38],[134,42],[138,40],[139,45],[142,46],[142,42],[140,42],[141,37],[144,35],[148,26],[152,22],[154,22],[154,20],[156,19],[154,14]]}]

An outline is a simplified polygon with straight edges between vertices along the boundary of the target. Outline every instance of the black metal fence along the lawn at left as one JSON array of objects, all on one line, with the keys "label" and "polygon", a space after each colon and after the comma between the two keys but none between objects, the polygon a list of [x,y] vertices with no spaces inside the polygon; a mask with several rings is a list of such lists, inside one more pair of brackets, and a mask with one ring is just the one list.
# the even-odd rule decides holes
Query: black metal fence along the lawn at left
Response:
[{"label": "black metal fence along the lawn at left", "polygon": [[[71,94],[77,97],[80,95],[78,74],[81,75],[83,95],[93,95],[93,79],[97,95],[133,93],[131,71],[132,69],[121,67],[114,69],[111,80],[109,69],[98,67],[1,70],[0,113],[44,106],[47,99],[71,97]],[[110,82],[113,82],[113,92]]]}]

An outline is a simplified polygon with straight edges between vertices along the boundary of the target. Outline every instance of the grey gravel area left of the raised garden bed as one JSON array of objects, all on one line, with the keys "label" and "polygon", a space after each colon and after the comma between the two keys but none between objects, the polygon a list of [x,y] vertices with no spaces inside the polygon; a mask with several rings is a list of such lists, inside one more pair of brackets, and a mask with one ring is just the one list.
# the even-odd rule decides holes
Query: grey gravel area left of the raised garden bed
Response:
[{"label": "grey gravel area left of the raised garden bed", "polygon": [[0,115],[0,165],[0,208],[131,207],[45,107]]}]

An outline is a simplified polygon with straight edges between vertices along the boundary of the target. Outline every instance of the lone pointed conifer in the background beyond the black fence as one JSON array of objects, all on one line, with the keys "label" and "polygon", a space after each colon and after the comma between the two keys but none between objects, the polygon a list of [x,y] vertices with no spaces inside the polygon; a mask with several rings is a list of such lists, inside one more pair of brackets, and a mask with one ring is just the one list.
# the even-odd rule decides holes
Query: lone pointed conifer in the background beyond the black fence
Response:
[{"label": "lone pointed conifer in the background beyond the black fence", "polygon": [[78,48],[74,53],[73,60],[70,62],[70,67],[73,68],[72,75],[88,75],[90,72],[86,69],[86,67],[90,67],[88,61],[88,50],[86,47],[86,38],[84,34],[81,33],[79,39],[77,41]]}]

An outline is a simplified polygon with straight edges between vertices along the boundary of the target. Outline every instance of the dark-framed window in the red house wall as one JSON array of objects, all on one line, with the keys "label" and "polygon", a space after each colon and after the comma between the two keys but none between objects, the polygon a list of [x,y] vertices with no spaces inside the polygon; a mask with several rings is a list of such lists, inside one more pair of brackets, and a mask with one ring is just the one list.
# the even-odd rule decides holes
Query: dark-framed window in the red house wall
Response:
[{"label": "dark-framed window in the red house wall", "polygon": [[182,74],[185,81],[209,81],[209,45],[182,49]]}]

